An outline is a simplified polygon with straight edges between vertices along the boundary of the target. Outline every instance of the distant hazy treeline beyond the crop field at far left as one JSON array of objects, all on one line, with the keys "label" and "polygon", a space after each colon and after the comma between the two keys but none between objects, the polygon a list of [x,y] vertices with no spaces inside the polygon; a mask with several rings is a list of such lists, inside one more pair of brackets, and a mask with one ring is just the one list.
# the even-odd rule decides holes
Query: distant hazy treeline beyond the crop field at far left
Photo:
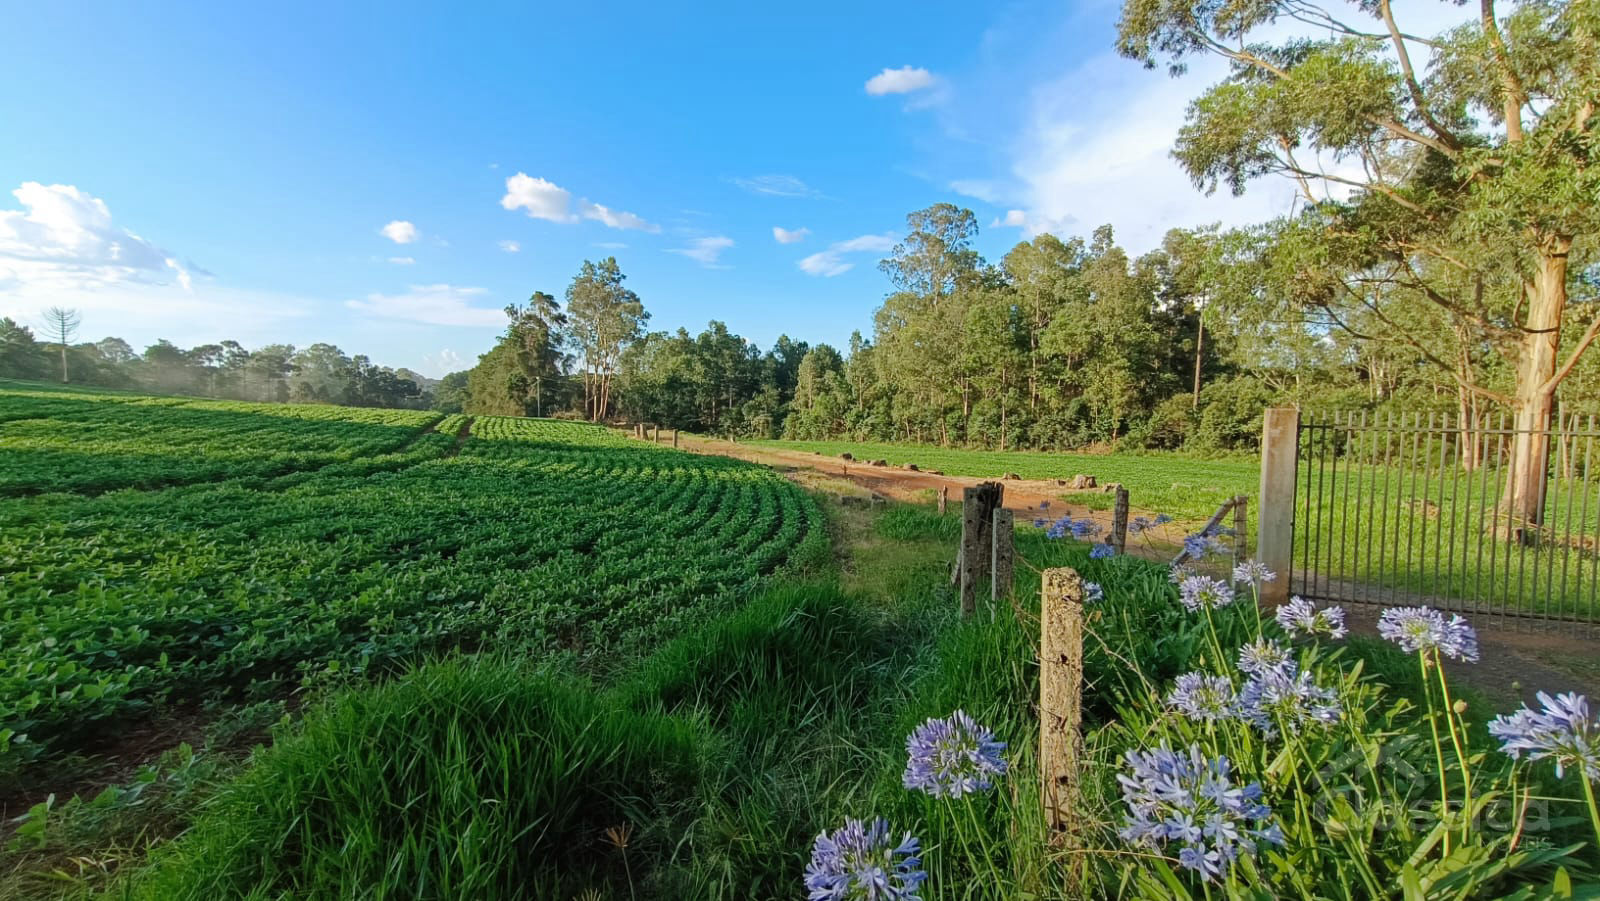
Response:
[{"label": "distant hazy treeline beyond the crop field at far left", "polygon": [[74,344],[75,315],[53,314],[61,314],[51,317],[53,323],[70,323],[66,341],[40,341],[32,328],[0,318],[0,378],[267,403],[426,410],[435,402],[434,379],[374,365],[333,344],[302,349],[269,344],[248,350],[237,341],[222,341],[184,349],[163,339],[141,354],[122,338]]}]

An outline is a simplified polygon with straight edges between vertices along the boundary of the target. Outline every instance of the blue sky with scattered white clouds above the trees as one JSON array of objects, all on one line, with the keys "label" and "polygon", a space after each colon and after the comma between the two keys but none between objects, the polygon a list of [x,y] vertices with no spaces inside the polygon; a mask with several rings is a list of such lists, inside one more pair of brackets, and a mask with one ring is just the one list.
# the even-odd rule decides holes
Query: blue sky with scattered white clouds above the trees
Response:
[{"label": "blue sky with scattered white clouds above the trees", "polygon": [[990,259],[1038,230],[1112,222],[1138,251],[1285,210],[1286,186],[1189,187],[1166,152],[1214,70],[1115,58],[1115,16],[13,3],[0,315],[56,302],[82,339],[331,341],[437,376],[504,304],[614,254],[653,328],[843,344],[934,202],[978,213]]}]

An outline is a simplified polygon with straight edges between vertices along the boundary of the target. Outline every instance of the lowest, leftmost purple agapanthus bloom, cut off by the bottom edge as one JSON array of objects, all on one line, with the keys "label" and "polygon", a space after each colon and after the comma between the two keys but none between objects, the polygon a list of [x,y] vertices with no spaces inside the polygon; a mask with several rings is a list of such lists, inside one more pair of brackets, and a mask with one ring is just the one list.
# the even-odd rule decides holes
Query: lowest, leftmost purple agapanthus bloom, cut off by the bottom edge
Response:
[{"label": "lowest, leftmost purple agapanthus bloom, cut off by the bottom edge", "polygon": [[922,871],[922,843],[906,832],[899,843],[890,837],[888,821],[872,826],[846,819],[835,832],[822,832],[811,847],[805,867],[810,901],[922,901],[917,887]]}]

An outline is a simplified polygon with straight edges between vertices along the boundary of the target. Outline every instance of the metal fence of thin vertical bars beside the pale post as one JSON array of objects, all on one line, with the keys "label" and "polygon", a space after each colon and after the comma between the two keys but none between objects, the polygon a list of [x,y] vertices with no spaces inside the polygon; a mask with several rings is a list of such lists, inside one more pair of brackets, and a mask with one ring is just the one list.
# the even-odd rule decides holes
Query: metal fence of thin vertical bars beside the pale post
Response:
[{"label": "metal fence of thin vertical bars beside the pale post", "polygon": [[[1302,413],[1291,592],[1589,631],[1600,624],[1595,426]],[[1507,496],[1515,448],[1528,450],[1518,435],[1547,438],[1533,442],[1544,443],[1542,491],[1520,499]]]}]

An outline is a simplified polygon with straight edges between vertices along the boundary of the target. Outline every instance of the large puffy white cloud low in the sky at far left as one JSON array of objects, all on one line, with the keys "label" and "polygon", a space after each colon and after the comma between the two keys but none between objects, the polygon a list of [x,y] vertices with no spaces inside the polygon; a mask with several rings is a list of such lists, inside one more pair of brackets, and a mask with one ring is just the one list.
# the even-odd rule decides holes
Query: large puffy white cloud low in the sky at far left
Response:
[{"label": "large puffy white cloud low in the sky at far left", "polygon": [[0,210],[0,291],[160,285],[168,277],[186,291],[194,286],[174,254],[112,224],[104,200],[70,184],[37,181],[11,194],[22,210]]}]

